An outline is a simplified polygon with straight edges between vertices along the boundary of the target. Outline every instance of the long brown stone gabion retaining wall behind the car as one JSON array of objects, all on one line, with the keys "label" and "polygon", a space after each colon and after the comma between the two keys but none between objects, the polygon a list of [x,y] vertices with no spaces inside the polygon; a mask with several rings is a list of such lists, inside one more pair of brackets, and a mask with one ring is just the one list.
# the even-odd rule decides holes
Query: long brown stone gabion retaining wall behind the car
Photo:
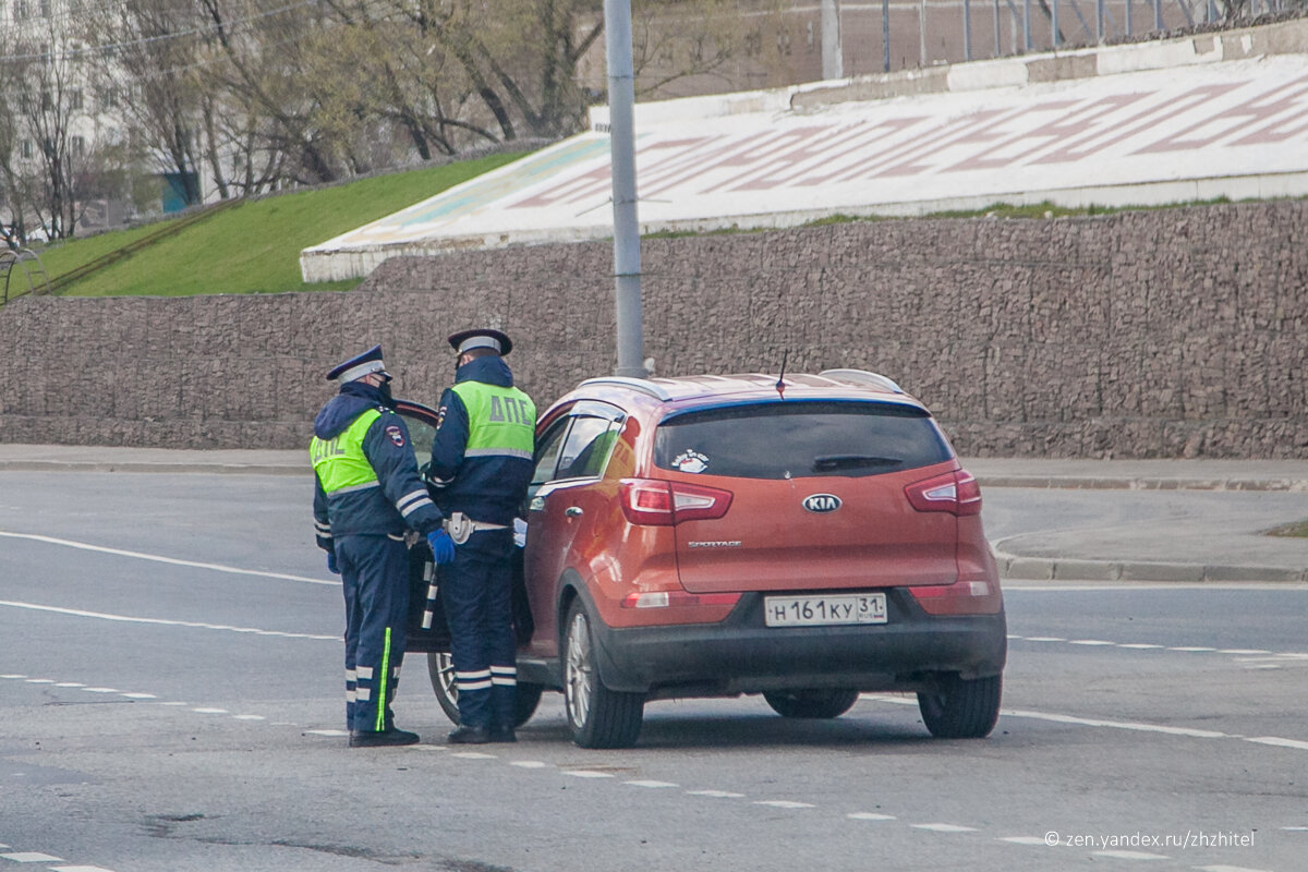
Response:
[{"label": "long brown stone gabion retaining wall behind the car", "polygon": [[[863,367],[977,456],[1308,458],[1308,203],[646,239],[657,375]],[[607,242],[396,258],[348,293],[22,298],[0,441],[298,447],[382,343],[434,403],[443,337],[510,332],[542,407],[610,373]]]}]

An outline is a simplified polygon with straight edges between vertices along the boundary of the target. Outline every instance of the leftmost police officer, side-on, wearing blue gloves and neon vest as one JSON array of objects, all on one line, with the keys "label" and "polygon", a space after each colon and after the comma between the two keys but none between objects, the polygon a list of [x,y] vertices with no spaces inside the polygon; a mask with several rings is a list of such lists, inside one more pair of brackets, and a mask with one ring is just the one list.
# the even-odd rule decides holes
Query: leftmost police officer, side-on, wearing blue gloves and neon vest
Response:
[{"label": "leftmost police officer, side-on, wearing blue gloves and neon vest", "polygon": [[327,569],[345,590],[345,722],[351,748],[412,745],[391,701],[404,660],[408,617],[407,528],[439,560],[454,544],[419,478],[404,420],[391,408],[391,375],[377,345],[334,367],[340,379],[314,420],[314,526]]}]

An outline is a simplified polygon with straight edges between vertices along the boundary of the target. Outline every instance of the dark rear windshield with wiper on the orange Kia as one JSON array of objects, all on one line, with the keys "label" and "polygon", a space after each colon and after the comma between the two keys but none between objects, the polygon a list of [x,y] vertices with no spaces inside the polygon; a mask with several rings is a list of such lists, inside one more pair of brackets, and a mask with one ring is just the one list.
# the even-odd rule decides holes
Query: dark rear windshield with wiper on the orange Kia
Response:
[{"label": "dark rear windshield with wiper on the orange Kia", "polygon": [[931,416],[896,403],[781,401],[666,418],[661,469],[738,478],[876,476],[954,456]]}]

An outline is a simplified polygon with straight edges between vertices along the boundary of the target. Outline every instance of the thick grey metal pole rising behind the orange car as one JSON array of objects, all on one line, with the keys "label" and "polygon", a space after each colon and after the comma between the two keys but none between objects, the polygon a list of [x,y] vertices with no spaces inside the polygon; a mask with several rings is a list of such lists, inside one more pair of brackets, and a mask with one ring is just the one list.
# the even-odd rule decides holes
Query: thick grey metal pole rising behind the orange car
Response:
[{"label": "thick grey metal pole rising behind the orange car", "polygon": [[630,0],[604,0],[608,126],[613,175],[613,293],[617,375],[645,378],[641,331],[641,225],[636,214],[636,73]]}]

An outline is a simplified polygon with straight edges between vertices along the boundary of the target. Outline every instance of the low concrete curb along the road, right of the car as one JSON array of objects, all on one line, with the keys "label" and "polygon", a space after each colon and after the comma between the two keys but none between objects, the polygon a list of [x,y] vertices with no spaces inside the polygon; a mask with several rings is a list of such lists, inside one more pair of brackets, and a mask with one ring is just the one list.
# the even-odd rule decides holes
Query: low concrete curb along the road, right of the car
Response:
[{"label": "low concrete curb along the road, right of the car", "polygon": [[1308,582],[1308,570],[1151,561],[1024,557],[995,552],[999,578],[1035,582]]}]

